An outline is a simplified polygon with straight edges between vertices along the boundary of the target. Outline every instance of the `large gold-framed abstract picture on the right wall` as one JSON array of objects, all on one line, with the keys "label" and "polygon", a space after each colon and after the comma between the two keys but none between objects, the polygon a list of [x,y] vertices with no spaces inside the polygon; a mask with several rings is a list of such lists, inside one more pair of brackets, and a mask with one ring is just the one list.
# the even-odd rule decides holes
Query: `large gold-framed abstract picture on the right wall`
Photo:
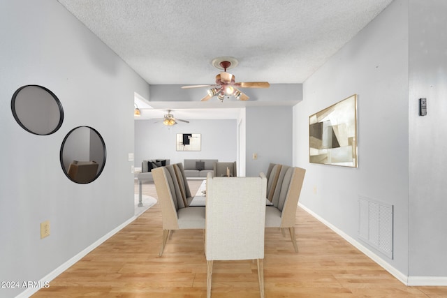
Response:
[{"label": "large gold-framed abstract picture on the right wall", "polygon": [[356,94],[309,116],[309,162],[358,167]]}]

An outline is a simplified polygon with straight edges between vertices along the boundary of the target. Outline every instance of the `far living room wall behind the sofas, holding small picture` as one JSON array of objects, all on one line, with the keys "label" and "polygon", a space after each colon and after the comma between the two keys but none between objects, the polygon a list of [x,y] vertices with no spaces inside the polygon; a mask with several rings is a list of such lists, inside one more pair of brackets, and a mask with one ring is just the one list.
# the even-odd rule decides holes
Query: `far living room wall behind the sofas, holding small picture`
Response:
[{"label": "far living room wall behind the sofas, holding small picture", "polygon": [[[188,119],[165,126],[154,120],[135,120],[135,167],[141,167],[143,159],[169,158],[170,163],[183,163],[184,159],[237,160],[236,119]],[[200,151],[177,151],[177,133],[200,133]]]}]

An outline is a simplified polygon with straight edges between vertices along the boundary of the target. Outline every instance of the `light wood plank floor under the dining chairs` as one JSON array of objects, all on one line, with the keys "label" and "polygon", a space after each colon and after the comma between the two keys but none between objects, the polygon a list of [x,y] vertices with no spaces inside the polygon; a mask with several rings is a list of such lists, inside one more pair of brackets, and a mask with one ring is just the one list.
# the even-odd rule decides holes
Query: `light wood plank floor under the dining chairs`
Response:
[{"label": "light wood plank floor under the dining chairs", "polygon": [[[156,198],[154,184],[143,193]],[[447,297],[447,287],[403,285],[306,211],[296,216],[299,253],[265,232],[265,297]],[[33,297],[206,297],[203,232],[174,232],[160,258],[162,234],[157,203]],[[256,262],[215,261],[212,297],[259,297],[257,278]]]}]

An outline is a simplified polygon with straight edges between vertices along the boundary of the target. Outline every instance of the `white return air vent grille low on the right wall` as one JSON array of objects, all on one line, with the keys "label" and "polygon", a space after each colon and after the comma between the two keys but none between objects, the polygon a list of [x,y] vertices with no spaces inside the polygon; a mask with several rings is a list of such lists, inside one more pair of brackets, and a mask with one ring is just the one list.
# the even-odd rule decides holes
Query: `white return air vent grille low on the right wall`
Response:
[{"label": "white return air vent grille low on the right wall", "polygon": [[358,237],[393,259],[393,205],[359,197]]}]

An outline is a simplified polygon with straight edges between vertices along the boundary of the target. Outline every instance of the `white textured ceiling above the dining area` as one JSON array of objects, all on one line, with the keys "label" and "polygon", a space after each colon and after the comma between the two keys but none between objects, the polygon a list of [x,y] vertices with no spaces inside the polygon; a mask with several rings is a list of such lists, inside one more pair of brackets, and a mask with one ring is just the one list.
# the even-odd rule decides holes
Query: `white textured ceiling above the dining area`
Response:
[{"label": "white textured ceiling above the dining area", "polygon": [[236,82],[297,84],[392,0],[58,1],[149,84],[214,84],[217,57]]}]

